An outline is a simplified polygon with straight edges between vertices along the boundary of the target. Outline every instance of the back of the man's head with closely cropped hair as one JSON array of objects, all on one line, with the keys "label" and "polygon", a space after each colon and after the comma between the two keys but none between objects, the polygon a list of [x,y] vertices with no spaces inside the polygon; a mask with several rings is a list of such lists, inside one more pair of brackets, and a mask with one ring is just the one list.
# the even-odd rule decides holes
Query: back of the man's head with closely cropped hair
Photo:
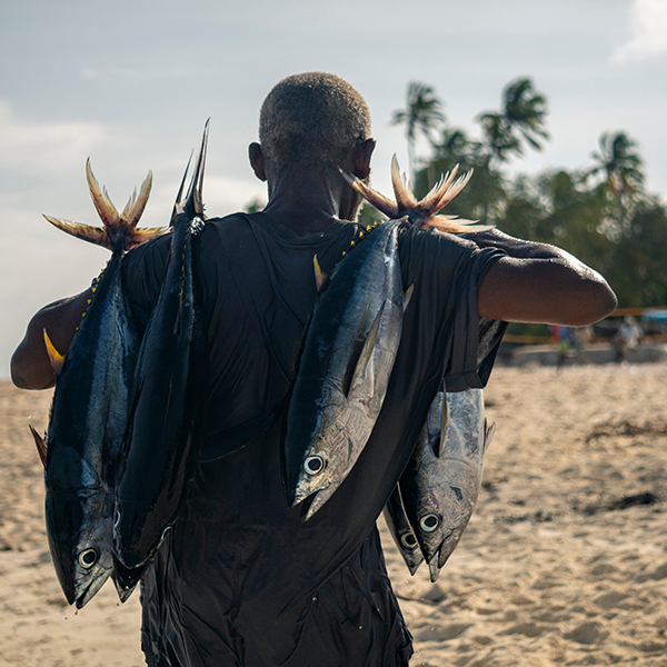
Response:
[{"label": "back of the man's head with closely cropped hair", "polygon": [[[295,166],[354,171],[355,150],[374,145],[364,98],[347,81],[323,72],[295,74],[273,87],[261,107],[259,140],[269,181]],[[372,148],[367,152],[370,159]]]}]

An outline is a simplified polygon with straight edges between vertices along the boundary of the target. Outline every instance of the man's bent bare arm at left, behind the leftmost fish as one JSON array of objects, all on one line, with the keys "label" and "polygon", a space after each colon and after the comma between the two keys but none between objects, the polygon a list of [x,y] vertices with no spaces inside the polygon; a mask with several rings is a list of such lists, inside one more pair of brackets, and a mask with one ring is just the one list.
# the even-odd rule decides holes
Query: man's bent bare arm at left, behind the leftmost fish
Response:
[{"label": "man's bent bare arm at left, behind the leftmost fish", "polygon": [[48,389],[56,376],[47,355],[44,329],[53,347],[64,355],[69,349],[81,316],[88,307],[91,289],[44,306],[28,323],[26,336],[11,358],[11,379],[21,389]]}]

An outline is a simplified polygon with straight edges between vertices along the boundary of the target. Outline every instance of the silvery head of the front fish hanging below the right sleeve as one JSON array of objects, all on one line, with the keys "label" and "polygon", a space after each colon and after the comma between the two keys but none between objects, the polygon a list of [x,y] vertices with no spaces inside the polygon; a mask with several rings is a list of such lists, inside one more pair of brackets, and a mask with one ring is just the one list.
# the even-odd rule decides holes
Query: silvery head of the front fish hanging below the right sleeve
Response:
[{"label": "silvery head of the front fish hanging below the right sleeve", "polygon": [[[477,502],[479,472],[461,460],[439,460],[444,472],[431,476],[427,492],[417,507],[416,534],[427,563],[451,555]],[[444,561],[442,561],[444,565]],[[440,565],[441,567],[441,565]]]}]

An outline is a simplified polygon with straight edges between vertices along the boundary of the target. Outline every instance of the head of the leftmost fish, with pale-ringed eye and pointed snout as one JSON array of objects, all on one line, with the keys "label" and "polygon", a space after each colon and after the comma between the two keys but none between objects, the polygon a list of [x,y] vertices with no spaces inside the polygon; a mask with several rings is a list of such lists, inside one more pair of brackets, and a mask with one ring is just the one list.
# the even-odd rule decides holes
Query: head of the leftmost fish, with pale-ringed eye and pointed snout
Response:
[{"label": "head of the leftmost fish, with pale-ringed eye and pointed snout", "polygon": [[78,609],[102,587],[113,569],[113,494],[51,490],[46,498],[47,534],[64,597]]}]

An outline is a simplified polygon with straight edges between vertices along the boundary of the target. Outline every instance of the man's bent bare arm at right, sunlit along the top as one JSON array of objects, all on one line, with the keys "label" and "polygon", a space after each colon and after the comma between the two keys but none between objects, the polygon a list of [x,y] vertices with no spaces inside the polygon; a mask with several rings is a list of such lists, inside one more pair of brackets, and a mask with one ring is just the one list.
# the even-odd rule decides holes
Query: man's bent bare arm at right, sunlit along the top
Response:
[{"label": "man's bent bare arm at right, sunlit along the top", "polygon": [[616,309],[616,295],[607,281],[560,248],[515,239],[497,229],[465,237],[509,255],[489,269],[479,288],[481,317],[584,327]]}]

